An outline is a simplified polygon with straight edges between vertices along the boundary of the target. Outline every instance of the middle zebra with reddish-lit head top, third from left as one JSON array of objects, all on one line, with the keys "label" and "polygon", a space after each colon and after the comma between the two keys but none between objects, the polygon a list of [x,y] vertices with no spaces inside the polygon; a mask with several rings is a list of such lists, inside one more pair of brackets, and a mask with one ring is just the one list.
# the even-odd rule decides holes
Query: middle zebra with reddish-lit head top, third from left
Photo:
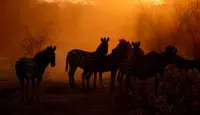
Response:
[{"label": "middle zebra with reddish-lit head top, third from left", "polygon": [[[95,65],[84,69],[84,76],[87,78],[87,87],[92,72],[111,72],[110,91],[114,90],[115,76],[120,63],[127,57],[130,43],[124,39],[119,40],[119,44],[112,50],[112,53],[106,55],[101,61],[96,61]],[[88,74],[89,73],[89,74]],[[84,78],[84,77],[83,77]],[[84,80],[84,79],[82,79]],[[84,82],[83,82],[84,83]]]}]

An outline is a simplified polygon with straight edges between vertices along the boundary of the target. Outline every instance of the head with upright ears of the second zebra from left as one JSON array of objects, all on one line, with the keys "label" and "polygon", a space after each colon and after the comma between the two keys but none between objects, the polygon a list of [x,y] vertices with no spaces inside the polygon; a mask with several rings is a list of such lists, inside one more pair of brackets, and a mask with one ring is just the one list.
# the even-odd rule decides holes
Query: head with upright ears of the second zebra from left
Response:
[{"label": "head with upright ears of the second zebra from left", "polygon": [[108,53],[108,42],[110,38],[101,38],[101,44],[96,49],[96,52],[100,55],[106,55]]}]

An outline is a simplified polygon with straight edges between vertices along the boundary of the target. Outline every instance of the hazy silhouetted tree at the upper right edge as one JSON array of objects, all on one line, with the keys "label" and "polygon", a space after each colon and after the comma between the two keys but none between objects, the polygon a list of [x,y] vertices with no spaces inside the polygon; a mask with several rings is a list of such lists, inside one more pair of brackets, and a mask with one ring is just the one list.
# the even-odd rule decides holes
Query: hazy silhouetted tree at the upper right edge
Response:
[{"label": "hazy silhouetted tree at the upper right edge", "polygon": [[[199,2],[195,1],[189,4],[184,10],[181,9],[177,32],[186,32],[189,34],[189,39],[192,41],[192,54],[193,58],[197,59],[199,54],[200,44],[200,7]],[[181,32],[180,32],[181,31]]]}]

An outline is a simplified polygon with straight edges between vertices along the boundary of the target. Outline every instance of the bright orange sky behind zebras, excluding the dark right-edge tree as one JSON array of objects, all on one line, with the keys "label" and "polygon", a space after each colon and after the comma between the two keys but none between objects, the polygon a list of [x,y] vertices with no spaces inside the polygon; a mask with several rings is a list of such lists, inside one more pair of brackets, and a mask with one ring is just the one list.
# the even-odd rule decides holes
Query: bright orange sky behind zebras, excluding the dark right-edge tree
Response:
[{"label": "bright orange sky behind zebras, excluding the dark right-edge tree", "polygon": [[[27,36],[23,25],[28,25],[34,36],[48,23],[48,37],[58,46],[57,65],[51,71],[52,79],[66,79],[65,57],[69,50],[80,48],[94,51],[100,43],[100,37],[110,37],[109,51],[114,48],[121,37],[127,40],[140,40],[146,52],[158,50],[157,39],[161,39],[161,49],[172,43],[172,23],[177,19],[175,3],[187,4],[188,0],[94,0],[87,4],[79,0],[75,2],[59,2],[36,4],[35,0],[6,0],[0,2],[0,35],[2,36],[2,56],[13,59],[20,57],[20,41]],[[45,1],[45,0],[43,0]],[[47,0],[46,0],[47,1]],[[53,1],[53,0],[51,0]],[[59,0],[57,0],[59,1]],[[64,1],[64,0],[60,0]],[[73,0],[68,0],[73,1]],[[6,4],[6,5],[2,5]],[[146,13],[146,14],[144,14]],[[9,15],[5,15],[9,14]],[[146,17],[145,17],[146,16]],[[184,35],[186,36],[186,35]],[[182,38],[183,39],[183,38]],[[187,42],[190,44],[190,41]],[[12,46],[12,47],[11,47]],[[186,55],[185,44],[180,54]],[[15,52],[13,52],[13,48]],[[187,48],[191,52],[191,48]],[[9,52],[13,52],[10,54]],[[77,78],[80,76],[80,70]]]}]

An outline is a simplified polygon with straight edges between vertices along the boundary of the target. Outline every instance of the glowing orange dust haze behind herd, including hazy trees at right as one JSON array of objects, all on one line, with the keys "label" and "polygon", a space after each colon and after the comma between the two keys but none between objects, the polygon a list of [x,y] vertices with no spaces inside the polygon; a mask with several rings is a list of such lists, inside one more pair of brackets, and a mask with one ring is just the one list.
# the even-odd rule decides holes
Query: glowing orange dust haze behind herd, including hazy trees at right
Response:
[{"label": "glowing orange dust haze behind herd, including hazy trees at right", "polygon": [[[157,0],[158,1],[158,0]],[[162,51],[167,44],[179,54],[198,58],[198,3],[189,0],[96,0],[95,4],[4,0],[0,3],[0,47],[2,76],[15,77],[17,58],[24,55],[22,40],[31,33],[45,33],[44,47],[56,45],[56,67],[48,67],[51,80],[66,81],[65,58],[71,49],[95,51],[101,37],[110,37],[109,51],[120,38],[141,41],[145,53]],[[191,1],[191,0],[190,0]],[[195,12],[195,13],[194,13]],[[25,28],[25,26],[27,28]],[[80,72],[76,79],[80,79]]]}]

